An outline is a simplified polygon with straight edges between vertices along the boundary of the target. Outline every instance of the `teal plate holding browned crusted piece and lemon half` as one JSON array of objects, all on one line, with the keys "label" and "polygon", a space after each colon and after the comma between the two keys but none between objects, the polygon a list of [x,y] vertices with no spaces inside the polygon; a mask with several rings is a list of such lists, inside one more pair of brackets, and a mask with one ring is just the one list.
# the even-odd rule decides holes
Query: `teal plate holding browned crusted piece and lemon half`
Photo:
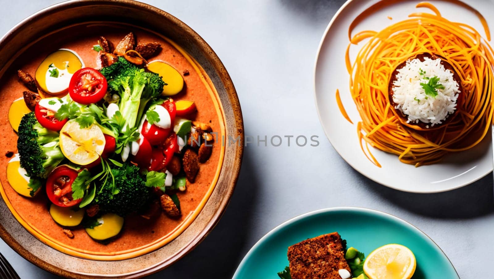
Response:
[{"label": "teal plate holding browned crusted piece and lemon half", "polygon": [[248,251],[233,278],[278,278],[277,273],[288,266],[288,246],[332,232],[366,255],[389,243],[409,247],[417,260],[412,279],[459,279],[448,257],[425,233],[393,215],[357,207],[312,211],[281,224]]}]

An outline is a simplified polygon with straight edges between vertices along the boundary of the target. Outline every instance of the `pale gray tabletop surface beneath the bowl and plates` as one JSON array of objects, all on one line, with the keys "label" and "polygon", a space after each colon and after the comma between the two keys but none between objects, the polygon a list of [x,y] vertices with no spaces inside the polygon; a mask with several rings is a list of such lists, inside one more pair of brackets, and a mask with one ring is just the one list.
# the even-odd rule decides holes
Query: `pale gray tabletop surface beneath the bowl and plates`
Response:
[{"label": "pale gray tabletop surface beneath the bowl and plates", "polygon": [[[0,33],[58,0],[1,0]],[[329,20],[344,0],[147,0],[197,31],[229,71],[246,134],[319,137],[317,147],[249,145],[223,218],[194,251],[151,278],[231,278],[250,247],[299,214],[334,206],[391,213],[428,234],[464,279],[491,278],[492,176],[445,193],[413,194],[354,171],[324,136],[313,98],[314,60]],[[0,240],[23,279],[54,278]]]}]

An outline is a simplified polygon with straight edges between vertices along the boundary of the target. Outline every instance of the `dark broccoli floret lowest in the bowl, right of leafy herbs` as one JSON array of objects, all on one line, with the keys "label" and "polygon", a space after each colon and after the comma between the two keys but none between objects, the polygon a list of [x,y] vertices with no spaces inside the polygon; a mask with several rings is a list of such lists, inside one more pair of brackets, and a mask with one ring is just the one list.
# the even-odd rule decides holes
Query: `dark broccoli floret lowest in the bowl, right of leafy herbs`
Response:
[{"label": "dark broccoli floret lowest in the bowl, right of leafy herbs", "polygon": [[115,177],[115,187],[112,183],[106,183],[96,191],[93,203],[102,212],[120,216],[137,212],[152,194],[152,187],[146,186],[146,176],[140,173],[138,167],[128,163],[124,163],[122,167],[113,166],[111,172]]}]

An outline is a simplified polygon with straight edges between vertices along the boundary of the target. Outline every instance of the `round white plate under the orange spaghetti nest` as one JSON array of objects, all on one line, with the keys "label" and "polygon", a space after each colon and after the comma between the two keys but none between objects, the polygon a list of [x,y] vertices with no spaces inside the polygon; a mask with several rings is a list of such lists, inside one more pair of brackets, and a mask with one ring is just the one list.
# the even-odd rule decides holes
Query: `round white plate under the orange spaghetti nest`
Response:
[{"label": "round white plate under the orange spaghetti nest", "polygon": [[[315,67],[316,107],[323,129],[334,149],[364,176],[382,185],[408,192],[447,191],[475,182],[489,174],[493,170],[491,133],[470,150],[449,154],[440,163],[418,168],[401,163],[396,155],[371,147],[372,154],[382,165],[378,168],[360,149],[356,126],[360,117],[349,93],[345,50],[348,46],[348,27],[351,22],[376,2],[378,0],[348,0],[329,22],[319,46]],[[359,23],[353,34],[362,30],[382,30],[392,23],[408,18],[412,12],[430,12],[425,8],[415,8],[418,2],[420,0],[389,5]],[[430,2],[439,9],[443,17],[469,24],[485,37],[484,29],[474,13],[450,2]],[[494,30],[494,18],[491,16],[494,12],[493,1],[475,0],[468,3],[482,12],[491,30]],[[388,16],[393,19],[390,20]],[[351,61],[355,60],[362,45],[361,42],[359,46],[350,48]],[[339,89],[341,101],[354,125],[341,115],[336,104],[336,89]]]}]

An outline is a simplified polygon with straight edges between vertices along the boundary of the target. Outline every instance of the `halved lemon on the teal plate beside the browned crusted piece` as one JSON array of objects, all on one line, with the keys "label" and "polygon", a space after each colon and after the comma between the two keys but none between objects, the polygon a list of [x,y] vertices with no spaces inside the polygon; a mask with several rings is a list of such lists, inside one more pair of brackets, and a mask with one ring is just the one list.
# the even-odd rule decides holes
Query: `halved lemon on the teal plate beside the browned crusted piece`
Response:
[{"label": "halved lemon on the teal plate beside the browned crusted piece", "polygon": [[412,251],[400,244],[381,246],[364,262],[364,272],[370,279],[410,279],[415,267]]}]

